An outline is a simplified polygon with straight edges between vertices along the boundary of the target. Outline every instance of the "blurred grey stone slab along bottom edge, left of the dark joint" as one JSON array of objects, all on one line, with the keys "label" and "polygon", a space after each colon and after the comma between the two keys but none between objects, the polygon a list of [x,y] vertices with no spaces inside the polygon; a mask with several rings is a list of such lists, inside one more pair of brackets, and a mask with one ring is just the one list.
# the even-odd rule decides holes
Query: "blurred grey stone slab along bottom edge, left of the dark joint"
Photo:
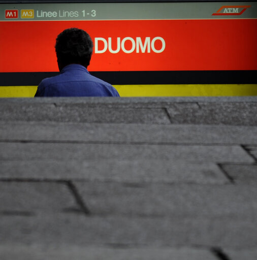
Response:
[{"label": "blurred grey stone slab along bottom edge, left of the dark joint", "polygon": [[129,248],[108,248],[104,246],[59,246],[44,247],[21,246],[21,245],[0,245],[1,260],[170,260],[170,259],[191,259],[191,260],[218,260],[208,249],[201,248],[169,248],[169,247],[129,247]]}]

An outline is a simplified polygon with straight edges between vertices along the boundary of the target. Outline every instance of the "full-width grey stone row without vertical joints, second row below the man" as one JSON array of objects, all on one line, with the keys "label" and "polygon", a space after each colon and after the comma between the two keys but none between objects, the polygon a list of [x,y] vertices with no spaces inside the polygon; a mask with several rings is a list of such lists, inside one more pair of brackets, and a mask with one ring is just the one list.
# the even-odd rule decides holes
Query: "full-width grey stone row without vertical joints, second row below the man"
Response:
[{"label": "full-width grey stone row without vertical joints, second row below the man", "polygon": [[6,121],[0,133],[2,141],[257,145],[257,126]]}]

